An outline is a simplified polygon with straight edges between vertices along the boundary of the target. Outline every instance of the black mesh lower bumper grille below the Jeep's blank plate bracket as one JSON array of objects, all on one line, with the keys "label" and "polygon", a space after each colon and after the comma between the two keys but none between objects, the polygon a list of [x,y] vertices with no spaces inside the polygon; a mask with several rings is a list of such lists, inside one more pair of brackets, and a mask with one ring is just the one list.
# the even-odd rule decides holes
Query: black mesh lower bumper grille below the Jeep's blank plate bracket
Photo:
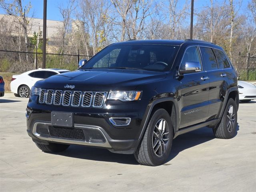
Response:
[{"label": "black mesh lower bumper grille below the Jeep's blank plate bracket", "polygon": [[82,129],[49,126],[49,132],[52,137],[85,141]]}]

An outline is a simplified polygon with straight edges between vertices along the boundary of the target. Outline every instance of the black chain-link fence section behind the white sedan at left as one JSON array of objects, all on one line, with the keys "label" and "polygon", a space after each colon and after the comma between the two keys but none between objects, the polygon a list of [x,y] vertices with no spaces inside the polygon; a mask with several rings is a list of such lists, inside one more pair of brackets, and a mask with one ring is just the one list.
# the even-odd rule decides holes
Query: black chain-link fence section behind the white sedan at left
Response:
[{"label": "black chain-link fence section behind the white sedan at left", "polygon": [[[79,60],[91,56],[74,54],[46,53],[46,68],[76,70]],[[4,78],[5,90],[10,91],[10,82],[14,74],[42,68],[41,52],[19,52],[0,50],[0,76]]]}]

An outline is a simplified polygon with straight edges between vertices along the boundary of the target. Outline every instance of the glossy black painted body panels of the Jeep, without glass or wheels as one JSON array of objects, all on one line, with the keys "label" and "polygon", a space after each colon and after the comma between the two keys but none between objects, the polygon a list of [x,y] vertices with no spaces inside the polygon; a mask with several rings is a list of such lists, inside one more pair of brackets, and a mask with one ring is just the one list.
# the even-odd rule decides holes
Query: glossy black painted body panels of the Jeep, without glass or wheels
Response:
[{"label": "glossy black painted body panels of the Jeep, without glass or wheels", "polygon": [[[74,90],[138,90],[142,91],[142,95],[140,100],[131,102],[106,100],[102,108],[50,106],[39,104],[38,96],[32,96],[27,106],[31,111],[27,118],[27,131],[34,142],[47,144],[32,134],[34,122],[51,122],[51,111],[73,112],[74,124],[99,126],[106,131],[112,147],[109,150],[132,154],[143,137],[154,106],[164,102],[165,108],[170,107],[169,110],[175,113],[172,123],[176,137],[203,126],[216,126],[222,117],[228,97],[231,94],[235,98],[238,97],[237,76],[232,65],[228,69],[205,71],[202,60],[202,72],[178,74],[180,62],[189,46],[206,46],[223,51],[219,46],[194,40],[146,40],[117,44],[170,44],[178,46],[178,53],[172,67],[166,72],[88,69],[67,72],[36,82],[36,87],[46,89],[64,89],[66,84],[72,84],[75,85]],[[222,77],[223,73],[227,76]],[[203,76],[208,76],[209,79],[201,80]],[[238,100],[236,102],[238,104]],[[113,126],[109,121],[110,117],[128,117],[131,122],[128,126]]]}]

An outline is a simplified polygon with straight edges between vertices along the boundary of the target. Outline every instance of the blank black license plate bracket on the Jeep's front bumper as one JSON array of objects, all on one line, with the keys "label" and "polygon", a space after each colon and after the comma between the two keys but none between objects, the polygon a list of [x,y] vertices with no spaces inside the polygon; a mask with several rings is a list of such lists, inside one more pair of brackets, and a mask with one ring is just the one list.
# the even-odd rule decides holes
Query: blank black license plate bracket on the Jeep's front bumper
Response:
[{"label": "blank black license plate bracket on the Jeep's front bumper", "polygon": [[51,112],[51,122],[53,126],[74,126],[74,116],[70,112]]}]

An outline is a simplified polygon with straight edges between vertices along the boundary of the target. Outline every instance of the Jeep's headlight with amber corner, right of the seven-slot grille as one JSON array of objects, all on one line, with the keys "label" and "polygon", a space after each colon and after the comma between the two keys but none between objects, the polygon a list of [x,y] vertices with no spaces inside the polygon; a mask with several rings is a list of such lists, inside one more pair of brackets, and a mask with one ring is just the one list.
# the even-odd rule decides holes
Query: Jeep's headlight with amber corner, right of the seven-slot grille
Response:
[{"label": "Jeep's headlight with amber corner, right of the seven-slot grille", "polygon": [[110,91],[108,99],[121,101],[136,101],[140,98],[140,91]]}]

